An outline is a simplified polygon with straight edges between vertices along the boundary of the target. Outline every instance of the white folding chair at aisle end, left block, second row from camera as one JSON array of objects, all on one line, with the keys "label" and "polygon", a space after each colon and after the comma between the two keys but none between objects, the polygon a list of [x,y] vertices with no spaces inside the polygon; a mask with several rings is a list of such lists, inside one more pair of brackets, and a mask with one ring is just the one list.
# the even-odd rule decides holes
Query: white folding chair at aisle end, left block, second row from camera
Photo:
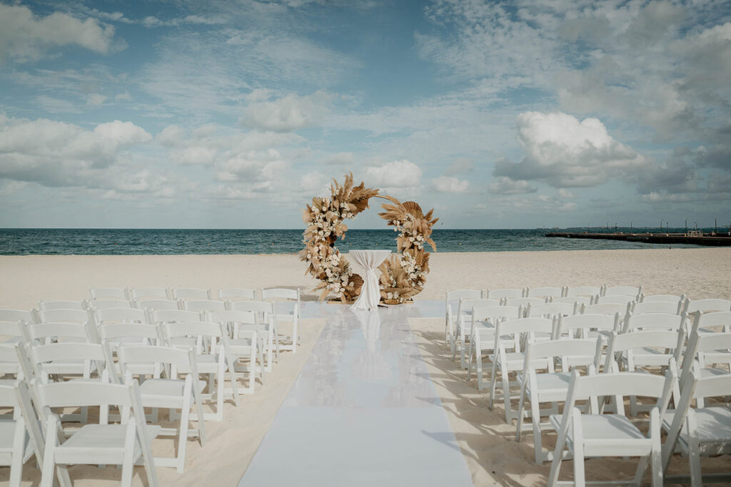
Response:
[{"label": "white folding chair at aisle end, left block, second row from camera", "polygon": [[[170,409],[170,420],[175,420],[172,410],[180,410],[177,428],[165,428],[159,436],[177,437],[178,452],[174,458],[154,458],[155,465],[175,467],[178,473],[185,469],[186,445],[189,437],[198,437],[205,445],[204,421],[197,421],[197,428],[189,428],[190,410],[195,407],[197,417],[203,418],[201,389],[204,380],[198,379],[195,351],[159,346],[122,346],[119,348],[119,363],[126,380],[136,374],[148,375],[140,384],[140,400],[143,407]],[[183,375],[180,378],[179,375]]]}]

